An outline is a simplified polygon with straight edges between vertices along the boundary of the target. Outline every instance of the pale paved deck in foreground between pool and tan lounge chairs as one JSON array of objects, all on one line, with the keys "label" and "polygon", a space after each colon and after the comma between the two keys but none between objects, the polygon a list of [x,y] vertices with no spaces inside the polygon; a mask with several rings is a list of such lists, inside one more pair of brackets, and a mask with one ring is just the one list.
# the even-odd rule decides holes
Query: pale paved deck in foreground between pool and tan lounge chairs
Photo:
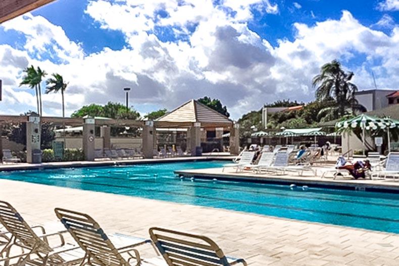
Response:
[{"label": "pale paved deck in foreground between pool and tan lounge chairs", "polygon": [[54,208],[64,207],[87,212],[107,233],[148,238],[160,226],[204,234],[251,266],[399,265],[397,234],[10,180],[0,180],[0,199],[31,224],[55,221]]}]

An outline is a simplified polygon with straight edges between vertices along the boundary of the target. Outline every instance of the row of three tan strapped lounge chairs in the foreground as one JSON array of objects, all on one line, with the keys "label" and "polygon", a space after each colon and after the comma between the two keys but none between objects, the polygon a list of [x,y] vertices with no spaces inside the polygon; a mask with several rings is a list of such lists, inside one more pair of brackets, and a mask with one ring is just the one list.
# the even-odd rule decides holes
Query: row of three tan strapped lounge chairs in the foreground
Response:
[{"label": "row of three tan strapped lounge chairs in the foreground", "polygon": [[[227,257],[210,238],[187,232],[152,227],[151,239],[107,235],[94,219],[81,212],[56,208],[57,218],[76,241],[66,244],[61,232],[37,234],[17,210],[8,202],[0,201],[0,225],[8,234],[0,242],[0,264],[27,266],[229,266],[246,265],[244,259]],[[53,247],[47,241],[50,236],[60,237],[61,244]],[[152,244],[158,256],[143,259],[136,249]],[[14,247],[21,251],[12,253]],[[159,256],[160,252],[161,256]],[[15,263],[15,260],[17,261]],[[14,264],[15,263],[15,264]]]}]

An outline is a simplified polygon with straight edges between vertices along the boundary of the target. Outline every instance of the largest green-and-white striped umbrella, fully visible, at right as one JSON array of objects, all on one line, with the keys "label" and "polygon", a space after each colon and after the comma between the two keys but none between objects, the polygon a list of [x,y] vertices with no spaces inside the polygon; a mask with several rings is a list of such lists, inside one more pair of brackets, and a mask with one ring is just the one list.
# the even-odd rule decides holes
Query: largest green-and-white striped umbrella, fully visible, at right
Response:
[{"label": "largest green-and-white striped umbrella, fully visible, at right", "polygon": [[[362,143],[366,148],[366,129],[367,130],[377,130],[385,129],[387,127],[387,122],[378,117],[372,117],[365,114],[359,115],[355,118],[347,119],[344,121],[337,122],[335,126],[338,129],[348,129],[348,128],[361,128],[362,129]],[[363,155],[365,150],[363,149]]]}]

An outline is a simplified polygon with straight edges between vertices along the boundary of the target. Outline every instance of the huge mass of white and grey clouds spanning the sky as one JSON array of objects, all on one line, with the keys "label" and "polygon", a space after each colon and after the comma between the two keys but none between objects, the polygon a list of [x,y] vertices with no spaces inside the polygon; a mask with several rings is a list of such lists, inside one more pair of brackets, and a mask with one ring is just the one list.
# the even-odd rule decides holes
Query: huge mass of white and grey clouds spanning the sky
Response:
[{"label": "huge mass of white and grey clouds spanning the sky", "polygon": [[[10,21],[4,27],[22,32],[27,38],[24,50],[0,45],[0,78],[5,81],[7,93],[6,104],[0,110],[35,110],[29,88],[18,87],[22,69],[31,64],[58,72],[70,82],[67,114],[91,102],[122,102],[122,88],[129,86],[133,104],[154,104],[171,110],[188,99],[207,95],[220,98],[237,119],[265,102],[281,98],[312,100],[311,80],[320,66],[333,59],[345,66],[359,55],[364,62],[350,70],[355,72],[360,88],[370,86],[370,70],[380,86],[399,82],[399,51],[394,48],[399,44],[399,28],[395,26],[386,35],[362,25],[344,11],[339,20],[319,21],[313,26],[295,23],[294,39],[279,40],[272,46],[251,31],[247,22],[253,19],[255,10],[278,10],[277,5],[256,0],[221,3],[91,1],[86,13],[102,28],[123,32],[127,45],[121,50],[104,48],[88,55],[79,43],[66,37],[61,27],[42,17],[18,18],[26,23],[25,27]],[[174,30],[177,37],[161,41],[158,27]],[[185,38],[179,38],[181,35]],[[48,45],[58,47],[53,54],[64,59],[63,63],[40,59],[40,54],[46,52],[41,49],[46,50]],[[38,57],[31,55],[32,49]],[[43,95],[43,107],[46,114],[60,115],[60,95]]]}]

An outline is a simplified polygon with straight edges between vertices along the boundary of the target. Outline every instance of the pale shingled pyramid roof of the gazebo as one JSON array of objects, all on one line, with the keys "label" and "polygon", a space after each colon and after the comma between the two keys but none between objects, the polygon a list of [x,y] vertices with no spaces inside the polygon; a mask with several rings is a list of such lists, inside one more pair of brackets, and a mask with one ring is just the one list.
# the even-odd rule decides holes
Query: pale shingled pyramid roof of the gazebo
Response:
[{"label": "pale shingled pyramid roof of the gazebo", "polygon": [[219,112],[196,101],[189,100],[172,112],[160,117],[161,122],[199,122],[199,123],[231,123],[232,121]]}]

